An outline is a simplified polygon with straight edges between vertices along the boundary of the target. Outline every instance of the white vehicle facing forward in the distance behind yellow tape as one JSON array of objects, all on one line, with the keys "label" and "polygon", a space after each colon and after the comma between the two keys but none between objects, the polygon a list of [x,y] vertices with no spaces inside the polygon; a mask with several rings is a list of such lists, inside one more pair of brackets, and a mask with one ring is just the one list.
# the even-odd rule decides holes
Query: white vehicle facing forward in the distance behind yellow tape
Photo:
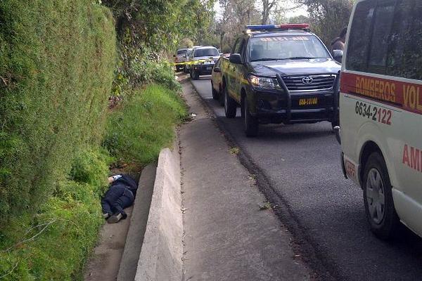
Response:
[{"label": "white vehicle facing forward in the distance behind yellow tape", "polygon": [[193,48],[190,65],[191,78],[199,79],[200,75],[209,75],[212,73],[212,67],[219,58],[219,51],[213,46],[200,46]]}]

